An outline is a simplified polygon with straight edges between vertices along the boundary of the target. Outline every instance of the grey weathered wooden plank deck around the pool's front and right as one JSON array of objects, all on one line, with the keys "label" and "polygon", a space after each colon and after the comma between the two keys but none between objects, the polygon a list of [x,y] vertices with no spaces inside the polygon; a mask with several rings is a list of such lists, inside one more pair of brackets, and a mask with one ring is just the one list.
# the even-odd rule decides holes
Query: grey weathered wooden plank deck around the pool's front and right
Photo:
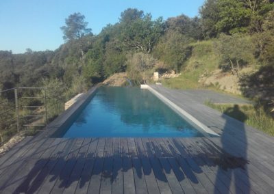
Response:
[{"label": "grey weathered wooden plank deck around the pool's front and right", "polygon": [[0,193],[273,193],[273,137],[152,87],[221,137],[27,137],[0,158]]}]

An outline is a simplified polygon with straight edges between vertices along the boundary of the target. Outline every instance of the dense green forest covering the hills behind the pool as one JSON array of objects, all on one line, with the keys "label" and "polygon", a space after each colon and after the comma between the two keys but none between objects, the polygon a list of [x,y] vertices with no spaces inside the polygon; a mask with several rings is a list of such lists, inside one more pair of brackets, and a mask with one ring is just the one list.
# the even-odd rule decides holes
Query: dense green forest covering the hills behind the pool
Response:
[{"label": "dense green forest covering the hills behind the pool", "polygon": [[[0,87],[47,87],[52,119],[63,111],[66,100],[114,73],[127,72],[135,85],[151,81],[155,71],[184,74],[194,46],[212,42],[223,72],[238,75],[241,68],[252,66],[253,73],[239,75],[242,95],[260,102],[271,114],[273,18],[273,0],[206,0],[194,18],[182,14],[153,20],[149,13],[128,8],[118,23],[95,35],[85,16],[73,13],[60,27],[64,44],[55,51],[0,51]],[[0,98],[9,100],[5,95]],[[5,128],[3,139],[10,135]]]}]

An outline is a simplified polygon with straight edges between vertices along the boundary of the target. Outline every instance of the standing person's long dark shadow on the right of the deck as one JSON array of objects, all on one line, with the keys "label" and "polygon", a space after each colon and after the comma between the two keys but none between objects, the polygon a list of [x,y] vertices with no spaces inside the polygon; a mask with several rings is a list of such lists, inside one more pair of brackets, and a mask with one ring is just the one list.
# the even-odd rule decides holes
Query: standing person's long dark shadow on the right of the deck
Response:
[{"label": "standing person's long dark shadow on the right of the deck", "polygon": [[[236,122],[227,115],[236,116],[240,122]],[[227,187],[235,188],[236,193],[250,193],[250,182],[246,169],[248,164],[247,137],[243,123],[247,120],[247,116],[240,111],[238,105],[234,105],[234,107],[226,109],[222,117],[225,118],[225,126],[221,135],[223,152],[219,157],[219,161],[217,161],[219,169],[215,185],[223,184],[222,177],[225,175],[227,177],[227,182],[225,182]],[[233,122],[236,122],[236,124],[232,124]],[[238,135],[240,142],[234,141],[232,134]],[[230,150],[234,150],[234,153],[231,153]],[[245,171],[245,176],[242,176],[242,171]],[[215,190],[214,193],[218,193],[218,191]]]}]

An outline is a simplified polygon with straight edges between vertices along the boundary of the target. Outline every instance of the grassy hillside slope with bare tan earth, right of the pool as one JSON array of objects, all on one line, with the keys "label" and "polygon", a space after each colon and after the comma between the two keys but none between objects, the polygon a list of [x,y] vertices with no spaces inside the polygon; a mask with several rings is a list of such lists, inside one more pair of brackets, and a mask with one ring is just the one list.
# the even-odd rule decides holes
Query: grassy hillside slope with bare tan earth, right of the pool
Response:
[{"label": "grassy hillside slope with bare tan earth, right of the pool", "polygon": [[165,79],[166,87],[177,89],[217,89],[231,94],[242,95],[240,90],[240,77],[243,74],[251,74],[258,70],[256,64],[249,64],[241,68],[236,74],[223,72],[219,68],[221,56],[216,48],[218,40],[207,40],[191,44],[192,55],[186,60],[184,69],[177,78]]}]

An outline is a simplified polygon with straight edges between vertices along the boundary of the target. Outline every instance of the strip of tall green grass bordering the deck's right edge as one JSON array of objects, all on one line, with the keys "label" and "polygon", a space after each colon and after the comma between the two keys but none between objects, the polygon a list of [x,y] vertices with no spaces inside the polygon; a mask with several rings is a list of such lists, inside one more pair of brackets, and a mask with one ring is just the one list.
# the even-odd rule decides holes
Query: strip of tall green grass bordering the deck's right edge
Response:
[{"label": "strip of tall green grass bordering the deck's right edge", "polygon": [[274,120],[264,112],[262,107],[256,108],[253,105],[241,105],[239,106],[239,111],[231,111],[234,109],[234,105],[216,105],[210,100],[206,100],[204,104],[274,136]]}]

